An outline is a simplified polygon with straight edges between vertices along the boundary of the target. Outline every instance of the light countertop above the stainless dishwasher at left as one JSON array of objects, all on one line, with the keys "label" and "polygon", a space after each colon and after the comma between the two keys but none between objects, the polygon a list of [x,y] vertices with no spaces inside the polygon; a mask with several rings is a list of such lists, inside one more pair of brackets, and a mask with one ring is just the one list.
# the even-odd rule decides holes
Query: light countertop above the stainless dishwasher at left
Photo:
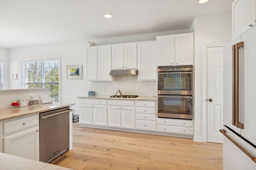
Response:
[{"label": "light countertop above the stainless dishwasher at left", "polygon": [[59,109],[62,107],[68,107],[73,106],[75,104],[68,104],[68,103],[60,103],[60,104],[36,104],[32,106],[26,106],[26,107],[18,107],[18,108],[6,108],[6,109],[0,109],[0,121],[13,119],[16,117],[22,117],[26,115],[32,115],[35,113],[40,113],[44,111],[50,111],[54,109]]}]

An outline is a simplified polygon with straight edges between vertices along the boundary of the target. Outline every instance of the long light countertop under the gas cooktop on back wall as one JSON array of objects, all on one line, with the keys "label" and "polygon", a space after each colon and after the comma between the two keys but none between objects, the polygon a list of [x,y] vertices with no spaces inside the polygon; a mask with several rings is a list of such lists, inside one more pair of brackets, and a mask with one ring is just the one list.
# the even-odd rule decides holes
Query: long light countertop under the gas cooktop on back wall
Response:
[{"label": "long light countertop under the gas cooktop on back wall", "polygon": [[110,98],[110,96],[79,96],[80,99],[108,99],[108,100],[146,100],[146,101],[156,101],[156,97],[144,97],[139,96],[137,98]]}]

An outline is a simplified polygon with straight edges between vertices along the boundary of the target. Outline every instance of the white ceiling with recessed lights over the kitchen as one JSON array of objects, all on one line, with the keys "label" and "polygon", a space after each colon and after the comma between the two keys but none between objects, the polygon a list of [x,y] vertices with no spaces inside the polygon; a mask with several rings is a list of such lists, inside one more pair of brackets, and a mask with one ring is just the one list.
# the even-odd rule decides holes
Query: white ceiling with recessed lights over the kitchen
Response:
[{"label": "white ceiling with recessed lights over the kitchen", "polygon": [[189,29],[195,16],[231,12],[234,0],[197,1],[0,0],[0,47]]}]

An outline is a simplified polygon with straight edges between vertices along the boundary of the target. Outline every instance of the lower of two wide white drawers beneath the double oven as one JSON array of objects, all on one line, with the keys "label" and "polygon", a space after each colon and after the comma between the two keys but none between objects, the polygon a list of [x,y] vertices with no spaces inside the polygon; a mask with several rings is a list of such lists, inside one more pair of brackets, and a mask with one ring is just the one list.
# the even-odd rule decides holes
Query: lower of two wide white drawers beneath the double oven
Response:
[{"label": "lower of two wide white drawers beneath the double oven", "polygon": [[168,133],[187,134],[187,135],[194,134],[194,130],[191,127],[175,127],[175,126],[157,125],[157,131],[168,132]]}]

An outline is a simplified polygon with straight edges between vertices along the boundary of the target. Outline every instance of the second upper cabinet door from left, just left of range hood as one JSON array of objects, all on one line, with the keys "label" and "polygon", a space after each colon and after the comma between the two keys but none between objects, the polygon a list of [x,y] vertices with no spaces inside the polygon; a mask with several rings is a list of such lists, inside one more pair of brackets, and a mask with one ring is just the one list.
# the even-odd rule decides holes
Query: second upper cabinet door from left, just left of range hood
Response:
[{"label": "second upper cabinet door from left, just left of range hood", "polygon": [[111,45],[98,47],[98,80],[112,80],[111,71]]}]

